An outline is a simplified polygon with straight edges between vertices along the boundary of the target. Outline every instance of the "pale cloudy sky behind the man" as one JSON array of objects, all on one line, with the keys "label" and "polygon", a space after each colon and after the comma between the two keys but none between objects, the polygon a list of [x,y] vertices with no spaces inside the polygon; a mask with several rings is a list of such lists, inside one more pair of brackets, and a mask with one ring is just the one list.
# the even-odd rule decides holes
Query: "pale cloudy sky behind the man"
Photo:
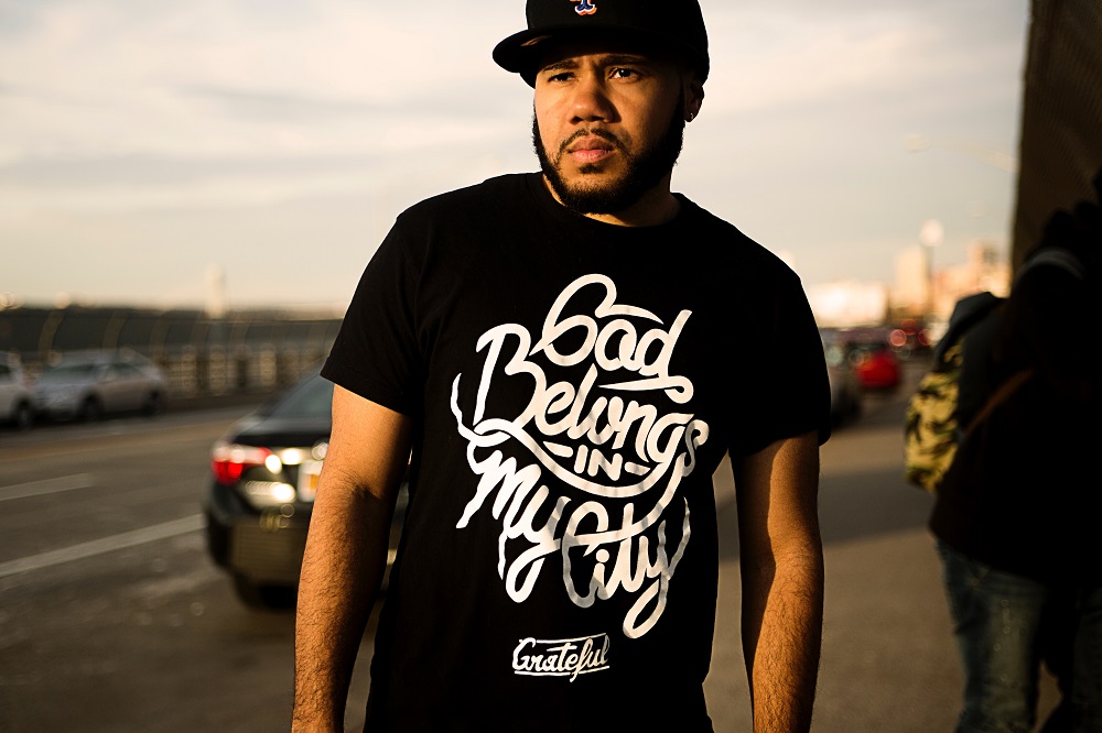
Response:
[{"label": "pale cloudy sky behind the man", "polygon": [[[1027,0],[701,7],[674,190],[806,286],[890,283],[930,219],[936,266],[1007,251]],[[0,0],[0,305],[203,306],[220,273],[229,307],[342,309],[403,209],[537,169],[490,58],[523,28],[519,0]]]}]

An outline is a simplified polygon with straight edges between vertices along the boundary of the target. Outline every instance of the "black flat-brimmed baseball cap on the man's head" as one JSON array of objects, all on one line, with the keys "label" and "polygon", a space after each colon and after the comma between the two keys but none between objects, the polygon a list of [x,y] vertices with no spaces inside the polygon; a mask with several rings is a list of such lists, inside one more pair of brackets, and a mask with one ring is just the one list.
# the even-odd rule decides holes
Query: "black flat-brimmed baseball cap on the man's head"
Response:
[{"label": "black flat-brimmed baseball cap on the man's head", "polygon": [[494,61],[536,86],[550,42],[587,36],[641,41],[687,58],[707,78],[707,32],[696,0],[528,0],[528,30],[494,48]]}]

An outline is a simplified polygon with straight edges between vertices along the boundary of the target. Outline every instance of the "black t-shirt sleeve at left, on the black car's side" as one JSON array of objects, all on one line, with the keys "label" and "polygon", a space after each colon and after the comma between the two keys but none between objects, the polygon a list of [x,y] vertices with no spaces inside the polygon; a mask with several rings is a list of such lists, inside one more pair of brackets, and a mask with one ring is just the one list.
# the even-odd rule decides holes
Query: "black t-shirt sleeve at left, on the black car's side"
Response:
[{"label": "black t-shirt sleeve at left, on the black car's side", "polygon": [[418,267],[402,219],[368,263],[322,376],[403,415],[421,409],[423,359],[415,324]]}]

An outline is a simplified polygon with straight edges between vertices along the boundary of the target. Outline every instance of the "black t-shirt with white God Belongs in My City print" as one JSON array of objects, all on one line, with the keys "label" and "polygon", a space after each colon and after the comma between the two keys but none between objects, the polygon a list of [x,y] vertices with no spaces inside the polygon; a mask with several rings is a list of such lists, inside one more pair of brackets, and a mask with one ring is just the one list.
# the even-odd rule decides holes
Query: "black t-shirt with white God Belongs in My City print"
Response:
[{"label": "black t-shirt with white God Belongs in My City print", "polygon": [[680,198],[577,216],[539,174],[414,206],[323,374],[415,419],[371,730],[710,730],[711,477],[829,434],[796,275]]}]

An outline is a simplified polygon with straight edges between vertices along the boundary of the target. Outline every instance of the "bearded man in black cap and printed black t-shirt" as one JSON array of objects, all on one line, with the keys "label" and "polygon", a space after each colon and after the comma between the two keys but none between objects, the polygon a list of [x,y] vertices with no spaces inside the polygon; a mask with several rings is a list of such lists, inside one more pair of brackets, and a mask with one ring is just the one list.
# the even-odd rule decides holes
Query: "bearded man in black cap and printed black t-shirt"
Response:
[{"label": "bearded man in black cap and printed black t-shirt", "polygon": [[756,730],[808,730],[829,389],[792,272],[670,192],[700,8],[529,0],[528,24],[494,57],[534,88],[542,173],[403,214],[323,371],[295,730],[342,727],[412,455],[368,730],[710,731],[727,450]]}]

